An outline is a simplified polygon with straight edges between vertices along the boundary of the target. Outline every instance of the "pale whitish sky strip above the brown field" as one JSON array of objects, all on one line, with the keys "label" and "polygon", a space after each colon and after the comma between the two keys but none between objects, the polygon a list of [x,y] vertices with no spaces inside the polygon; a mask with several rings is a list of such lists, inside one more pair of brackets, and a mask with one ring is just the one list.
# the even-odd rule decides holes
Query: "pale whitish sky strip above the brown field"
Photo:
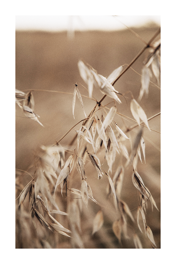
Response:
[{"label": "pale whitish sky strip above the brown field", "polygon": [[142,26],[160,16],[16,16],[16,30],[118,30],[125,26]]}]

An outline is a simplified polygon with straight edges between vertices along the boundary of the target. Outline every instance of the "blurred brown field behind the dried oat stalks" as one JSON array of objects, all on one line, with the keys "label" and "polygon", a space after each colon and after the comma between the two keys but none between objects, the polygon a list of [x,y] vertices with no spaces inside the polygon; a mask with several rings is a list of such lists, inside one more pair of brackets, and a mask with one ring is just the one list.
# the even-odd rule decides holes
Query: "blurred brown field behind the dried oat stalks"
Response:
[{"label": "blurred brown field behind the dried oat stalks", "polygon": [[[133,28],[133,30],[148,42],[158,30],[158,26],[147,24],[141,28]],[[16,89],[24,92],[36,90],[33,91],[35,100],[34,112],[40,116],[39,120],[44,125],[43,128],[33,120],[22,118],[23,113],[16,106],[16,168],[28,170],[30,165],[33,164],[36,150],[41,145],[53,145],[75,123],[84,119],[84,113],[79,101],[76,99],[74,120],[72,115],[73,96],[71,94],[39,90],[46,89],[73,93],[76,82],[86,87],[79,75],[77,67],[79,59],[91,65],[99,74],[107,77],[120,65],[129,64],[144,45],[128,29],[121,31],[76,31],[72,38],[68,37],[67,32],[16,31]],[[141,55],[132,66],[140,74],[145,56],[146,53]],[[156,83],[154,77],[151,80]],[[131,69],[114,85],[114,88],[122,94],[130,90],[135,99],[138,98],[140,87],[141,77]],[[79,84],[78,89],[81,94],[88,96],[88,92]],[[103,94],[94,88],[93,96],[99,101]],[[127,94],[127,97],[127,104],[123,97],[120,98],[122,104],[117,105],[118,112],[133,118],[130,111],[130,94]],[[95,101],[84,97],[82,99],[88,115],[94,108]],[[108,101],[109,98],[106,98],[103,104],[105,105]],[[149,96],[142,99],[140,105],[148,118],[159,113],[160,90],[150,84]],[[123,124],[123,120],[120,117],[116,118],[117,121],[119,126]],[[135,123],[126,121],[126,124],[132,126]],[[153,130],[160,132],[160,116],[149,121],[149,126]],[[79,128],[79,125],[77,128]],[[60,142],[61,145],[69,144],[74,136],[75,131],[73,130]],[[160,134],[144,129],[143,137],[146,145],[146,164],[140,164],[139,161],[138,172],[160,210]],[[123,200],[130,209],[134,209],[138,205],[138,199],[137,191],[131,181],[131,175],[132,173],[129,171],[129,174],[124,176]],[[29,182],[29,179],[25,177],[23,186]],[[106,202],[103,193],[104,188],[106,189],[107,181],[102,179],[102,182],[98,182],[97,185],[95,180],[94,178],[89,180],[89,184],[92,184],[91,188],[94,198],[98,200],[101,197],[104,208],[109,207],[109,213],[104,210],[104,214],[107,217],[104,227],[106,232],[104,233],[102,229],[93,238],[88,239],[88,230],[91,223],[85,216],[89,214],[89,211],[85,212],[82,219],[84,223],[82,225],[84,246],[85,248],[118,248],[118,240],[109,228],[112,221],[115,220],[113,219],[113,210],[111,211],[109,202]],[[92,214],[96,211],[92,208],[90,210],[92,210]],[[153,231],[157,247],[160,248],[160,212],[156,209],[152,212],[149,205],[146,221]],[[28,238],[25,241],[25,232],[27,231],[17,231],[16,247],[37,247],[35,240]],[[71,247],[68,242],[65,242],[67,240],[64,239],[62,240],[61,238],[62,243],[58,242],[55,247]],[[125,244],[124,242],[123,247],[130,248],[130,244]],[[145,247],[151,248],[150,243],[146,243]]]}]

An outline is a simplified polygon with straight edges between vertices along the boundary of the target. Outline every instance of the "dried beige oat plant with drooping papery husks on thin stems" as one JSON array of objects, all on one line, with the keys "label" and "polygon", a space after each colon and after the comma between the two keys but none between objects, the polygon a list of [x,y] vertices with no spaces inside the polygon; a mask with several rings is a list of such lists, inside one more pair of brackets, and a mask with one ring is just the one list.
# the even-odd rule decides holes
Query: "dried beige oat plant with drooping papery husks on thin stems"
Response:
[{"label": "dried beige oat plant with drooping papery husks on thin stems", "polygon": [[[119,247],[123,247],[123,240],[128,241],[131,238],[133,240],[133,247],[142,248],[143,245],[138,236],[138,230],[141,231],[141,233],[144,231],[146,235],[145,239],[149,239],[151,245],[157,247],[152,230],[146,224],[145,215],[147,214],[148,201],[151,203],[152,210],[153,206],[157,210],[158,207],[149,189],[145,187],[145,180],[142,179],[137,171],[138,159],[141,163],[142,159],[146,162],[145,135],[143,135],[143,129],[135,132],[136,137],[134,139],[131,135],[131,132],[134,131],[136,126],[142,126],[143,128],[145,126],[148,128],[148,131],[151,132],[152,129],[149,128],[148,124],[151,118],[147,118],[145,111],[133,96],[130,104],[131,114],[135,120],[118,113],[118,106],[116,103],[122,103],[119,99],[122,94],[114,89],[116,81],[131,67],[138,57],[147,50],[157,35],[158,32],[124,71],[124,65],[121,65],[107,78],[97,74],[97,71],[94,70],[92,66],[79,60],[79,72],[82,79],[87,84],[89,97],[92,98],[94,86],[98,86],[100,92],[105,95],[97,101],[96,106],[87,117],[82,95],[78,90],[78,85],[75,84],[72,113],[75,119],[74,112],[77,94],[82,111],[86,117],[75,125],[77,126],[82,122],[82,125],[75,130],[77,133],[75,135],[75,139],[77,138],[76,143],[73,139],[71,146],[62,146],[58,144],[71,130],[73,130],[75,127],[73,126],[53,146],[41,146],[40,151],[36,155],[35,164],[31,166],[34,170],[34,177],[20,193],[18,217],[24,216],[25,210],[23,205],[25,203],[25,207],[32,212],[32,221],[37,230],[36,238],[38,238],[39,241],[43,241],[43,239],[44,241],[47,240],[47,232],[49,232],[52,240],[54,236],[51,232],[54,232],[59,234],[60,241],[62,240],[60,235],[65,236],[65,239],[67,239],[65,241],[67,241],[69,245],[71,244],[73,248],[84,248],[84,244],[86,244],[84,232],[86,232],[87,229],[90,230],[91,227],[92,236],[95,236],[96,233],[98,234],[100,230],[103,230],[104,234],[106,234],[106,227],[104,225],[107,223],[105,223],[104,219],[106,218],[106,214],[109,214],[109,218],[107,217],[106,221],[111,221],[111,228],[114,232],[114,237],[118,239],[116,243]],[[148,95],[149,93],[148,88],[150,85],[151,72],[153,72],[157,85],[159,85],[159,44],[156,47],[155,45],[152,47],[154,48],[151,48],[148,59],[142,69],[141,90],[139,91],[138,100],[141,100],[144,94]],[[151,67],[151,70],[149,67]],[[107,108],[106,106],[108,113],[105,110],[105,106],[102,105],[106,96],[113,99],[114,104],[111,108]],[[23,101],[23,104],[21,101]],[[25,94],[17,90],[16,102],[21,107],[24,114],[27,112],[27,117],[32,118],[42,125],[38,120],[38,116],[33,112],[34,97],[31,91]],[[119,115],[121,115],[121,117],[126,117],[127,120],[133,121],[135,125],[128,127],[127,123],[125,123],[125,119],[123,119],[126,126],[124,130],[121,124],[119,124],[121,121],[118,119]],[[155,118],[155,116],[156,115],[152,118]],[[140,147],[142,149],[143,158]],[[105,170],[105,173],[102,172],[103,167],[105,170],[108,168],[108,173],[106,173]],[[131,210],[133,208],[130,209],[130,206],[128,206],[127,202],[123,201],[122,197],[124,175],[126,175],[128,170],[132,174],[132,183],[136,188],[139,198],[139,205],[136,210],[133,211]],[[102,194],[99,192],[99,197],[93,188],[91,174],[94,180],[98,178],[100,186],[101,181],[104,181],[104,179],[106,181],[107,179],[107,189],[105,189]],[[59,185],[60,188],[58,188]],[[95,194],[95,198],[98,202],[93,197]],[[28,201],[26,199],[27,196],[29,197]],[[64,200],[65,197],[67,198],[66,200]],[[107,197],[107,200],[104,197]],[[105,210],[103,199],[111,204],[111,207],[108,208],[109,211]],[[63,207],[67,212],[62,211]],[[92,208],[97,212],[96,215],[92,213]],[[86,212],[89,212],[89,210],[91,212],[90,220],[86,218]],[[110,213],[111,210],[113,213]],[[26,214],[28,214],[29,211],[26,211]],[[53,217],[52,214],[56,216]],[[85,220],[84,217],[86,218]],[[50,223],[51,220],[54,223]],[[143,229],[141,228],[140,220],[143,222]],[[38,227],[36,222],[39,222],[42,227]],[[60,222],[64,222],[66,227]],[[92,239],[90,234],[87,236],[90,240]],[[50,245],[51,242],[49,243],[48,241],[47,243],[48,247],[52,247]],[[55,244],[58,244],[57,239]]]}]

